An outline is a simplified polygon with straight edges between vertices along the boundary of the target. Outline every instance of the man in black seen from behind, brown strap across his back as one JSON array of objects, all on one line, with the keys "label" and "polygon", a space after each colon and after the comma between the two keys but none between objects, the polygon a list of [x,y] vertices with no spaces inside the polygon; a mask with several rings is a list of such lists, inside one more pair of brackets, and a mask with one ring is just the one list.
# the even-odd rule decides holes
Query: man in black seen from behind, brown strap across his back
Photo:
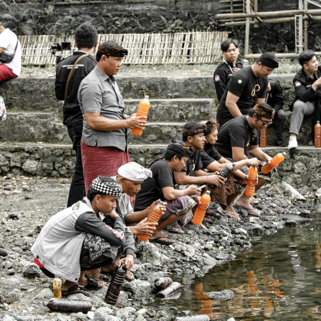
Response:
[{"label": "man in black seen from behind, brown strap across his back", "polygon": [[[77,95],[82,79],[96,66],[96,60],[92,55],[97,45],[98,34],[96,29],[89,23],[82,23],[75,30],[75,46],[78,50],[56,66],[56,98],[65,100],[63,124],[67,126],[68,135],[73,142],[73,149],[76,152],[76,164],[70,184],[67,207],[80,201],[86,195],[80,147],[82,138],[82,111],[79,107]],[[75,63],[76,65],[74,66]],[[73,66],[73,72],[69,76]],[[70,78],[69,85],[66,88],[68,77]]]}]

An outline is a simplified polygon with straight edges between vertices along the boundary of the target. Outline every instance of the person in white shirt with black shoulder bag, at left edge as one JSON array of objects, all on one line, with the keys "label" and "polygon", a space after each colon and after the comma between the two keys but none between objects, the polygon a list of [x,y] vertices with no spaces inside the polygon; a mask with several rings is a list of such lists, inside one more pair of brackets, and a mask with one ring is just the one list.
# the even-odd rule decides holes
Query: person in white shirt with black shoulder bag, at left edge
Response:
[{"label": "person in white shirt with black shoulder bag, at left edge", "polygon": [[[8,62],[4,61],[8,55],[14,55]],[[4,28],[0,22],[0,83],[20,76],[21,72],[21,44],[9,28]]]}]

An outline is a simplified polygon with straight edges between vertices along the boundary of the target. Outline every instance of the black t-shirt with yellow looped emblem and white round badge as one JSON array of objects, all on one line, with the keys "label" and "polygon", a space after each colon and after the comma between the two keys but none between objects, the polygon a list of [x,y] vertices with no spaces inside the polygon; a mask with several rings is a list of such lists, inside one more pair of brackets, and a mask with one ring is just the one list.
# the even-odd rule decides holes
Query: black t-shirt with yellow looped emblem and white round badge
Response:
[{"label": "black t-shirt with yellow looped emblem and white round badge", "polygon": [[[256,85],[259,85],[259,87]],[[223,97],[217,107],[216,114],[221,118],[234,118],[229,109],[225,106],[226,96],[228,91],[230,91],[232,94],[239,97],[236,104],[242,115],[246,115],[254,106],[256,98],[266,97],[267,85],[267,77],[256,77],[251,66],[237,71],[233,74],[226,86]],[[258,88],[260,89],[258,90]]]}]

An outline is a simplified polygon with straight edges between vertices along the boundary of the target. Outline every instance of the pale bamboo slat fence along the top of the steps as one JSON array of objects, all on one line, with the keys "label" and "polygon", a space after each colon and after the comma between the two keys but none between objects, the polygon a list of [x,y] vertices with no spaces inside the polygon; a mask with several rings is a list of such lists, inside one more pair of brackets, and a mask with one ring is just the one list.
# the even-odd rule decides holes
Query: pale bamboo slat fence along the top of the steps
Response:
[{"label": "pale bamboo slat fence along the top of the steps", "polygon": [[[101,34],[99,43],[116,41],[128,50],[124,64],[199,64],[221,60],[221,42],[228,32],[191,31],[177,33]],[[20,36],[22,65],[56,64],[50,47],[56,42],[71,42],[71,50],[57,54],[70,56],[74,50],[74,36]]]}]

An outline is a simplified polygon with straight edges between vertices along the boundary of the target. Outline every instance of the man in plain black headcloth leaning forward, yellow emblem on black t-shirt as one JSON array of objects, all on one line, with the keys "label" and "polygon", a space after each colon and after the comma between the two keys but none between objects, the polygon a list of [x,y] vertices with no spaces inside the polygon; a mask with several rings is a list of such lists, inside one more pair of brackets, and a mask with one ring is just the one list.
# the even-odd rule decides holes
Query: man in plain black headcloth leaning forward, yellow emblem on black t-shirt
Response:
[{"label": "man in plain black headcloth leaning forward, yellow emblem on black t-shirt", "polygon": [[265,52],[255,64],[233,74],[217,107],[216,119],[220,126],[234,117],[247,115],[255,104],[265,102],[267,76],[278,67],[277,57]]}]

